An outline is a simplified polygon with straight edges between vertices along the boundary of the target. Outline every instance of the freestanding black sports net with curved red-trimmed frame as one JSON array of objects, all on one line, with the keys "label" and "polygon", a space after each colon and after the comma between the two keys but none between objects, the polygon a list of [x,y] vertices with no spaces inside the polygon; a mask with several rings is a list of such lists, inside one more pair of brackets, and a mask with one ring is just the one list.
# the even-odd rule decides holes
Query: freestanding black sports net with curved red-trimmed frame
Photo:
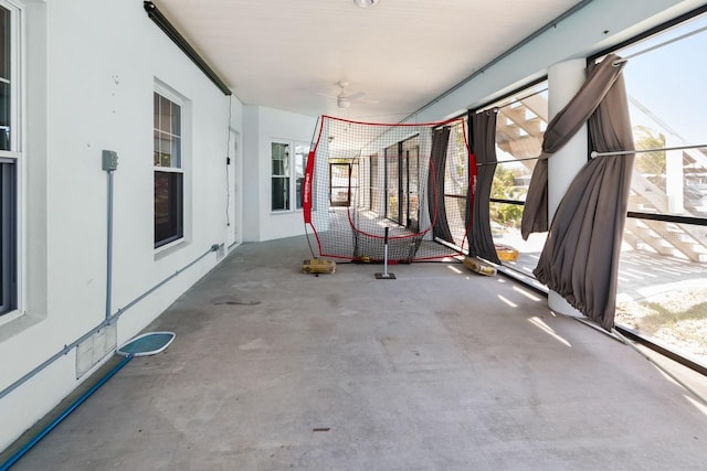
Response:
[{"label": "freestanding black sports net with curved red-trimmed frame", "polygon": [[476,169],[464,124],[323,116],[302,193],[318,256],[381,263],[386,242],[389,263],[462,256]]}]

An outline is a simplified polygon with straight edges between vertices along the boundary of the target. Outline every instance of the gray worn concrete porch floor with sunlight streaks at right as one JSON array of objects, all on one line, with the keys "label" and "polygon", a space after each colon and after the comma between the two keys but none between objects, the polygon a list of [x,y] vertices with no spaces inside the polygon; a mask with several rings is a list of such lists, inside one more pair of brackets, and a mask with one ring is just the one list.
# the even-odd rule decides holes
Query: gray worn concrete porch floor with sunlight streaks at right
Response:
[{"label": "gray worn concrete porch floor with sunlight streaks at right", "polygon": [[[238,247],[13,470],[688,470],[707,407],[633,349],[462,265]],[[707,378],[686,373],[707,392]]]}]

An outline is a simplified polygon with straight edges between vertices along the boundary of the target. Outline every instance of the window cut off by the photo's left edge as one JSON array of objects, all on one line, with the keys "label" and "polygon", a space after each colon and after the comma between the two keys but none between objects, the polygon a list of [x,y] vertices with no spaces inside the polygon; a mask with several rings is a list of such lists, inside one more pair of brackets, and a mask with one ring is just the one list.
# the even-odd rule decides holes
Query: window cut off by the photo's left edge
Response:
[{"label": "window cut off by the photo's left edge", "polygon": [[0,0],[0,315],[18,304],[18,13]]}]

